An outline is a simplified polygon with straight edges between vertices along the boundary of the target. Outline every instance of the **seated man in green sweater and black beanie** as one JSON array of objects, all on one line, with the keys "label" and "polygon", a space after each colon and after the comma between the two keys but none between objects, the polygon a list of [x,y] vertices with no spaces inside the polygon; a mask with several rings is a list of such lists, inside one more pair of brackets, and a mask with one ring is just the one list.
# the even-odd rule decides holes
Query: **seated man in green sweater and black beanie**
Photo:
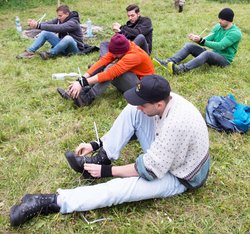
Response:
[{"label": "seated man in green sweater and black beanie", "polygon": [[[204,47],[193,43],[187,43],[167,61],[154,58],[154,63],[168,69],[171,74],[187,72],[204,63],[220,67],[231,64],[237,53],[242,34],[240,29],[232,23],[234,12],[230,8],[221,10],[218,17],[219,24],[215,25],[207,37],[202,38],[200,35],[189,34],[191,41],[211,48],[213,51],[206,50]],[[190,54],[194,56],[191,61],[179,64]]]}]

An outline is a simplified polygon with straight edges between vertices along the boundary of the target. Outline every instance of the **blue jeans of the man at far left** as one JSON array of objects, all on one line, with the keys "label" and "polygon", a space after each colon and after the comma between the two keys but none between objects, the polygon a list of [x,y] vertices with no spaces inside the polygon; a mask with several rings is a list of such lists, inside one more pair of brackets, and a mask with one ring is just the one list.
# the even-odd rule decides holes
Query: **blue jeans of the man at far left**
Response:
[{"label": "blue jeans of the man at far left", "polygon": [[53,56],[58,54],[76,54],[79,52],[77,43],[71,36],[67,35],[60,39],[55,33],[47,31],[42,31],[31,47],[27,50],[35,52],[42,47],[46,41],[48,41],[52,46],[50,53]]}]

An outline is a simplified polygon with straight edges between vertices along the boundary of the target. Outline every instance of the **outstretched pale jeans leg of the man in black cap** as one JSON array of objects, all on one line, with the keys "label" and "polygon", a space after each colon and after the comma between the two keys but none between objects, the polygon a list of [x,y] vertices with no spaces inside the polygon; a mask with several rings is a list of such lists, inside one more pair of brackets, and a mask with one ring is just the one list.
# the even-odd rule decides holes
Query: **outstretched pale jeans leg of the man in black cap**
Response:
[{"label": "outstretched pale jeans leg of the man in black cap", "polygon": [[58,205],[63,214],[74,211],[88,211],[124,202],[151,198],[164,198],[183,193],[186,190],[179,180],[166,174],[161,179],[147,181],[141,177],[117,178],[106,183],[58,189]]}]

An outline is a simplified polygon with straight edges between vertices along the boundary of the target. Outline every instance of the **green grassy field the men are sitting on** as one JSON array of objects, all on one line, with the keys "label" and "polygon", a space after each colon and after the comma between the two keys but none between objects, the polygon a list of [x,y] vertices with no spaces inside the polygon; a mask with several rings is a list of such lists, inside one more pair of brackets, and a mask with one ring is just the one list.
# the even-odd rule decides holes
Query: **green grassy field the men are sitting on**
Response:
[{"label": "green grassy field the men are sitting on", "polygon": [[[177,13],[173,1],[135,1],[143,15],[154,25],[152,57],[167,58],[188,41],[187,34],[199,34],[217,22],[224,7],[235,11],[235,23],[241,28],[243,40],[233,64],[227,68],[204,65],[180,76],[170,76],[173,91],[193,102],[204,114],[212,95],[232,93],[240,103],[250,105],[250,28],[249,4],[216,3],[205,0],[187,1],[183,13]],[[65,1],[64,3],[67,3]],[[90,18],[104,31],[86,41],[99,45],[112,35],[111,24],[127,20],[125,7],[130,1],[69,1],[78,10],[84,23]],[[103,135],[112,125],[126,102],[110,88],[90,107],[76,109],[62,100],[57,87],[67,81],[54,81],[51,74],[82,72],[98,59],[98,53],[42,61],[17,60],[32,41],[20,39],[15,31],[15,16],[25,22],[55,16],[54,5],[41,4],[22,10],[1,9],[0,6],[0,233],[249,233],[250,232],[250,134],[225,134],[209,129],[212,168],[206,186],[195,193],[181,196],[123,204],[98,209],[85,215],[79,213],[38,217],[19,228],[9,225],[9,210],[25,193],[49,193],[57,188],[73,188],[89,184],[72,171],[64,158],[81,141],[95,139],[93,121]],[[208,32],[207,32],[208,33]],[[47,48],[49,48],[47,46]],[[43,49],[44,50],[44,49]],[[133,162],[140,147],[132,142],[122,152],[117,165]],[[97,183],[104,181],[98,180]],[[93,183],[96,183],[93,182]],[[86,201],[88,202],[88,201]]]}]

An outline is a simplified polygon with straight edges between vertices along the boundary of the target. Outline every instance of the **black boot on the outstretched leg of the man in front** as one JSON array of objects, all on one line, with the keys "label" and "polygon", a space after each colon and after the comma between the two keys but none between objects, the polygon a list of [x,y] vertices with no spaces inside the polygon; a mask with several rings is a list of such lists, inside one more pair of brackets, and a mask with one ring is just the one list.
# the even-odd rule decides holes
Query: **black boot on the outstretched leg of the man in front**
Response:
[{"label": "black boot on the outstretched leg of the man in front", "polygon": [[59,211],[56,194],[26,194],[20,205],[11,207],[10,224],[19,226],[38,214],[48,215]]}]

